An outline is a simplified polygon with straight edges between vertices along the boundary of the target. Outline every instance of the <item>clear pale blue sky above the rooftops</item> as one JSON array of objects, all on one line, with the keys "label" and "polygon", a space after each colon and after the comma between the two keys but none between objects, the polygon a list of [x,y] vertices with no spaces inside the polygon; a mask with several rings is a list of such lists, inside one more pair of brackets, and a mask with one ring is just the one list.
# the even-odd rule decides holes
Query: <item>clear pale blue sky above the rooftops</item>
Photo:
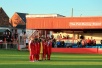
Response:
[{"label": "clear pale blue sky above the rooftops", "polygon": [[11,18],[15,12],[29,14],[61,14],[102,16],[102,0],[0,0],[0,7]]}]

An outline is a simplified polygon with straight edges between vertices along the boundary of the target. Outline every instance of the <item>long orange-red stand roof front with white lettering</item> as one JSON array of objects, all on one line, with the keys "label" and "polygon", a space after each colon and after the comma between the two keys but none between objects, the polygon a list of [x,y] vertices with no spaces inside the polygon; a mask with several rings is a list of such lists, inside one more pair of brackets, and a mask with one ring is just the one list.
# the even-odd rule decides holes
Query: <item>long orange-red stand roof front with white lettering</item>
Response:
[{"label": "long orange-red stand roof front with white lettering", "polygon": [[102,29],[102,17],[27,18],[27,29]]}]

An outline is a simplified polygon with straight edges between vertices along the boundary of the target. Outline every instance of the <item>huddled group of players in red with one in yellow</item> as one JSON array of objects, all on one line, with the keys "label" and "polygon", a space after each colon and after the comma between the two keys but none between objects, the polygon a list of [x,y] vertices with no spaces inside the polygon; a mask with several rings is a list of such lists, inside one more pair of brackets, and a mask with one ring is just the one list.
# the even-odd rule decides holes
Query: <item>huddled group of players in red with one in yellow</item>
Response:
[{"label": "huddled group of players in red with one in yellow", "polygon": [[44,38],[31,38],[29,41],[29,59],[31,62],[39,60],[50,60],[52,48],[52,40]]}]

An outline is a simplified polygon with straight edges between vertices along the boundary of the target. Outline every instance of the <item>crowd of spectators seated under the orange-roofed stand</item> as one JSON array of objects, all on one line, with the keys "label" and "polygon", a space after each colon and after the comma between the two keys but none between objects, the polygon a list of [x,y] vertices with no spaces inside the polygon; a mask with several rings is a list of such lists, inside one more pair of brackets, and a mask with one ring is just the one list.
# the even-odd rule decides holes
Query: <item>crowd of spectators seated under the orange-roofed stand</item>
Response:
[{"label": "crowd of spectators seated under the orange-roofed stand", "polygon": [[[70,39],[66,39],[67,41],[70,41]],[[86,47],[91,47],[91,46],[97,46],[98,44],[96,43],[95,39],[78,39],[74,40],[76,42],[65,42],[63,40],[57,40],[54,39],[52,41],[52,47],[53,48],[86,48]],[[100,40],[100,44],[102,44],[102,40]]]}]

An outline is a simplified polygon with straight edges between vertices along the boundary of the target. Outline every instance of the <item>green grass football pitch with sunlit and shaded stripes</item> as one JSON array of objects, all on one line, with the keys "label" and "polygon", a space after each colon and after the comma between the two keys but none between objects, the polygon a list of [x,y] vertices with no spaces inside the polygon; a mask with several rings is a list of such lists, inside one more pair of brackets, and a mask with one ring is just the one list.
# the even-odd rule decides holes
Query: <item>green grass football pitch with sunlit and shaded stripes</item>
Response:
[{"label": "green grass football pitch with sunlit and shaded stripes", "polygon": [[30,62],[28,51],[0,49],[0,68],[102,68],[102,54],[52,53],[51,60]]}]

